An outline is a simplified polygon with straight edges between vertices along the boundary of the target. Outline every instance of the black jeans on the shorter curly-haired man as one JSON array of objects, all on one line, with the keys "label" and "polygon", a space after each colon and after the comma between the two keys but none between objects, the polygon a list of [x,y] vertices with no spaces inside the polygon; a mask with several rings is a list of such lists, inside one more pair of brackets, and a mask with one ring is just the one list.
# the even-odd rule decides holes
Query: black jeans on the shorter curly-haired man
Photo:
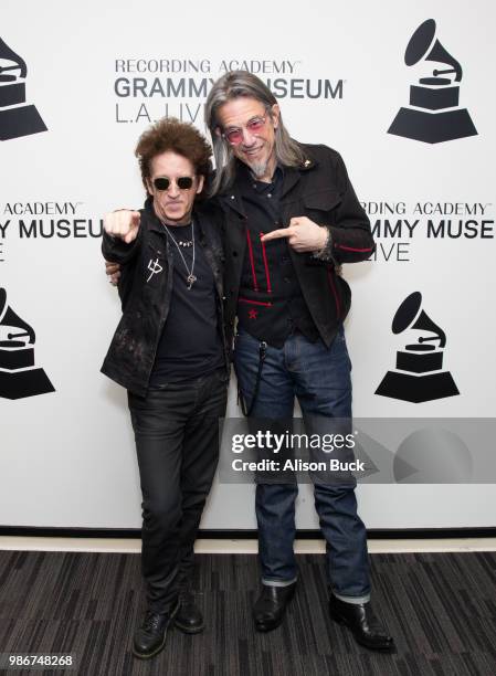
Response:
[{"label": "black jeans on the shorter curly-haired man", "polygon": [[219,460],[223,370],[128,392],[143,493],[141,572],[149,608],[166,612],[188,585],[193,545]]}]

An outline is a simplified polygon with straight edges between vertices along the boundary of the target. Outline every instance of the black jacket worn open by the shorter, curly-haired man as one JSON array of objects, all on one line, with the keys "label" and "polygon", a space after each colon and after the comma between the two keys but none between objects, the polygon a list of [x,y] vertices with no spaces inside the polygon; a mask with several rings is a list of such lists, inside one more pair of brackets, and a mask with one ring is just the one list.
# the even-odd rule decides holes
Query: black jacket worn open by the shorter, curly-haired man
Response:
[{"label": "black jacket worn open by the shorter, curly-haired man", "polygon": [[[170,307],[173,258],[167,233],[152,211],[150,199],[140,213],[139,233],[130,244],[106,233],[103,236],[104,257],[122,265],[118,291],[123,317],[112,339],[102,372],[127,390],[144,397],[148,390],[158,342]],[[193,218],[200,231],[197,243],[203,247],[207,261],[212,267],[219,326],[224,335],[221,239],[223,215],[214,202],[208,202],[196,205]],[[159,272],[152,273],[151,268]],[[224,357],[228,373],[225,338]]]}]

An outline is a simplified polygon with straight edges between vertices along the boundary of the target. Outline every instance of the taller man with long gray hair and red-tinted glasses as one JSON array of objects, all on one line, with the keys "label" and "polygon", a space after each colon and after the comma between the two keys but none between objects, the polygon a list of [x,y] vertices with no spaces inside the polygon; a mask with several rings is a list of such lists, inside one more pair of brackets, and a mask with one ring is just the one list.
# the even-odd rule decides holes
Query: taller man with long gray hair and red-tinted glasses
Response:
[{"label": "taller man with long gray hair and red-tinted glasses", "polygon": [[[288,420],[295,395],[305,420],[351,419],[342,323],[350,289],[341,263],[374,251],[369,220],[335,150],[292,139],[268,87],[245,71],[226,73],[205,105],[224,208],[225,319],[241,400],[251,419]],[[256,421],[255,421],[256,424]],[[327,543],[330,614],[374,649],[393,640],[370,608],[367,537],[356,479],[314,482]],[[297,581],[293,551],[296,482],[258,476],[256,518],[262,592],[255,627],[281,624]]]}]

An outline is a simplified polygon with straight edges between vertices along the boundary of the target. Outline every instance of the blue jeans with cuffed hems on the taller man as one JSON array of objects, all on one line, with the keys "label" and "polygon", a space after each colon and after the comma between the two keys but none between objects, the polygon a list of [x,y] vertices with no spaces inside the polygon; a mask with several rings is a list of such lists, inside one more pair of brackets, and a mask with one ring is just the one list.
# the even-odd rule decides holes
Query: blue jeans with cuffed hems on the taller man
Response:
[{"label": "blue jeans with cuffed hems on the taller man", "polygon": [[[258,369],[258,340],[240,331],[234,349],[238,383],[250,404]],[[304,420],[309,416],[351,419],[351,362],[342,326],[330,346],[310,342],[300,334],[281,349],[268,346],[253,418],[291,419],[298,399]],[[326,539],[327,575],[344,601],[370,598],[367,535],[357,514],[356,479],[314,483],[315,507]],[[258,557],[263,584],[284,587],[297,579],[295,539],[296,483],[256,485]]]}]

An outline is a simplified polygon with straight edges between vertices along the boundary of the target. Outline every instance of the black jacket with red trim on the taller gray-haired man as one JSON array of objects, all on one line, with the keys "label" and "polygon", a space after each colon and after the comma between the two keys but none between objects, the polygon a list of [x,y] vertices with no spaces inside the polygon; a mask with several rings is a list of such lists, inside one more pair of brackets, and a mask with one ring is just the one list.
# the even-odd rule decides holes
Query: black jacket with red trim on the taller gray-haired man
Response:
[{"label": "black jacket with red trim on the taller gray-haired man", "polygon": [[[370,221],[360,205],[341,156],[327,146],[300,145],[306,159],[298,168],[285,167],[281,196],[281,221],[307,216],[328,228],[327,247],[291,256],[306,305],[324,342],[329,347],[351,304],[351,291],[337,274],[341,263],[358,263],[376,250]],[[232,345],[240,281],[246,247],[241,196],[233,187],[219,196],[225,212],[225,305],[228,345]]]}]

